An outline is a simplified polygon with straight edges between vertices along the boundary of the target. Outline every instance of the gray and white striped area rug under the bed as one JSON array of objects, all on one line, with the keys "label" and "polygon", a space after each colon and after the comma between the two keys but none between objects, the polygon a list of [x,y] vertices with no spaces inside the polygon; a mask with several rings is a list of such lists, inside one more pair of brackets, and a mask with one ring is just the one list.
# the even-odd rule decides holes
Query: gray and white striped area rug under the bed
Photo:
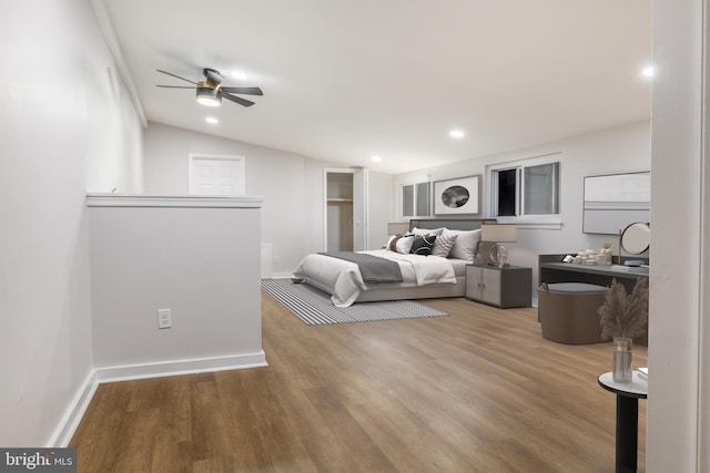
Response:
[{"label": "gray and white striped area rug under the bed", "polygon": [[335,307],[326,292],[291,279],[262,279],[262,288],[308,326],[448,316],[408,300]]}]

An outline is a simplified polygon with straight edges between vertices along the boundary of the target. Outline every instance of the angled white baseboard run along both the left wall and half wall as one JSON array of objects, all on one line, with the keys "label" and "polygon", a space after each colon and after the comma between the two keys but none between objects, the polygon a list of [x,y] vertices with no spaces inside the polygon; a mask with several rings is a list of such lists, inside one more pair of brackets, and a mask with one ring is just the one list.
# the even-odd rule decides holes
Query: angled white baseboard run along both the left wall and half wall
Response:
[{"label": "angled white baseboard run along both the left wall and half wall", "polygon": [[161,361],[158,363],[141,363],[123,367],[97,368],[91,370],[82,385],[77,391],[62,421],[59,423],[48,448],[65,448],[74,435],[89,403],[97,392],[99,384],[114,381],[129,381],[144,378],[173,377],[225,370],[267,367],[263,350],[256,353],[233,354],[227,357],[200,358],[192,360]]}]

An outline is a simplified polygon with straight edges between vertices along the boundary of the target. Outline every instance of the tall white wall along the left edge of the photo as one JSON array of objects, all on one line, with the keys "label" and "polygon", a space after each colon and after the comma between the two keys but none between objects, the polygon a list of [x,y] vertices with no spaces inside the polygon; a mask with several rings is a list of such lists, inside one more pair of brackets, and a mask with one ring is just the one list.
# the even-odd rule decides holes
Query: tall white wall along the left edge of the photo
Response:
[{"label": "tall white wall along the left edge of the photo", "polygon": [[93,364],[85,192],[140,191],[142,130],[88,0],[8,3],[0,41],[0,445],[41,446]]}]

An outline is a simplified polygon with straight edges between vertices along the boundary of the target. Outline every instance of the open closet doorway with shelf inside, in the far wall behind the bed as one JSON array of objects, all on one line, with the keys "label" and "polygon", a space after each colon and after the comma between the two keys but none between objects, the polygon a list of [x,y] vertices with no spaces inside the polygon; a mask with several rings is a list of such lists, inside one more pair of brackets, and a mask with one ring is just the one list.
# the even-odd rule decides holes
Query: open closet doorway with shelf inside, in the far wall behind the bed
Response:
[{"label": "open closet doorway with shelf inside, in the far wall behind the bed", "polygon": [[324,246],[327,251],[367,249],[367,171],[324,171]]}]

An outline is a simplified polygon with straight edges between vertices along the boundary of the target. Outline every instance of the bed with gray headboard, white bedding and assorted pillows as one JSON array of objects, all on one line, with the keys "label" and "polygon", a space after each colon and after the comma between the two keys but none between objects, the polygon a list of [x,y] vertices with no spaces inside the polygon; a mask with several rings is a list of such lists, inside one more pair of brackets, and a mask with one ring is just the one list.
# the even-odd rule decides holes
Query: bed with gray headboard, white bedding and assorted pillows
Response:
[{"label": "bed with gray headboard, white bedding and assorted pillows", "polygon": [[[361,271],[359,263],[348,260],[348,255],[320,253],[304,257],[293,279],[329,294],[337,307],[377,300],[463,297],[466,291],[466,265],[474,260],[484,222],[473,218],[412,219],[404,238],[390,236],[383,249],[351,254],[355,259],[376,257],[394,261],[382,263],[397,266],[402,274],[400,281],[394,282],[396,279],[387,278],[384,281],[369,276],[364,278],[365,266]],[[410,240],[410,248],[422,245],[426,254],[426,246],[430,243],[426,241],[428,235],[437,235],[429,247],[436,254],[417,254],[422,253],[418,251],[420,247],[417,251],[409,249],[415,253],[406,251]],[[422,244],[422,240],[425,243]]]}]

